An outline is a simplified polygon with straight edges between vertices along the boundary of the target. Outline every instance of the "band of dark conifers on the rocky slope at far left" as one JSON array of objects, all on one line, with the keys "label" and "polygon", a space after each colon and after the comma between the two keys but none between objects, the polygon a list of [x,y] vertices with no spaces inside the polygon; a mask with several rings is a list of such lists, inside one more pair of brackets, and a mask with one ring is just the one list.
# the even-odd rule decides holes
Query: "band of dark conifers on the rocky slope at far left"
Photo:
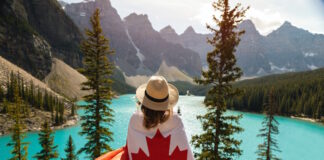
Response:
[{"label": "band of dark conifers on the rocky slope at far left", "polygon": [[[15,87],[18,88],[18,93],[15,93]],[[11,72],[6,84],[0,85],[0,113],[10,113],[14,109],[15,94],[23,100],[21,107],[25,117],[29,116],[30,107],[34,107],[51,112],[55,125],[63,124],[65,108],[62,98],[35,86],[33,81],[26,81],[19,73]]]}]

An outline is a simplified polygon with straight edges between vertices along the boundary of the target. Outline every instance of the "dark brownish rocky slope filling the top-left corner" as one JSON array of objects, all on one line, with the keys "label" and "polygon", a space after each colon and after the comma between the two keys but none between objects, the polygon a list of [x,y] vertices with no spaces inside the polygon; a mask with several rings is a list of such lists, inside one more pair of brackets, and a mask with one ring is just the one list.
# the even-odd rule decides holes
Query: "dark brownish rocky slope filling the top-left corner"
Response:
[{"label": "dark brownish rocky slope filling the top-left corner", "polygon": [[0,55],[43,78],[50,71],[51,47],[29,25],[28,14],[19,0],[0,2]]}]

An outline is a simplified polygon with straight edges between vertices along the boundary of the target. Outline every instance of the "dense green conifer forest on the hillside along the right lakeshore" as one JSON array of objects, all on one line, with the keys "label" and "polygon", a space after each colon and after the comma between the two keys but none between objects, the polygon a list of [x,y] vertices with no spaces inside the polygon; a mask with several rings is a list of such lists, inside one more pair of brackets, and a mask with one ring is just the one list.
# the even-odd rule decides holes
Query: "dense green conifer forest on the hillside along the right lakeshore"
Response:
[{"label": "dense green conifer forest on the hillside along the right lakeshore", "polygon": [[234,86],[242,89],[243,94],[228,102],[230,109],[263,112],[273,87],[277,114],[316,119],[324,116],[324,68],[245,80]]}]

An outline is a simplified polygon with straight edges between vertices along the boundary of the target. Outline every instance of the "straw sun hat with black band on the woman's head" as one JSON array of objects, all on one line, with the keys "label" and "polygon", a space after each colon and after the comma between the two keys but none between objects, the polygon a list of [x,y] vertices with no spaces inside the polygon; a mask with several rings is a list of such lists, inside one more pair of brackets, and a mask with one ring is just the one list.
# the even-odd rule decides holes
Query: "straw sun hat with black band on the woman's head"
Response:
[{"label": "straw sun hat with black band on the woman's head", "polygon": [[137,100],[155,111],[166,111],[177,104],[178,89],[162,76],[152,76],[147,83],[136,90]]}]

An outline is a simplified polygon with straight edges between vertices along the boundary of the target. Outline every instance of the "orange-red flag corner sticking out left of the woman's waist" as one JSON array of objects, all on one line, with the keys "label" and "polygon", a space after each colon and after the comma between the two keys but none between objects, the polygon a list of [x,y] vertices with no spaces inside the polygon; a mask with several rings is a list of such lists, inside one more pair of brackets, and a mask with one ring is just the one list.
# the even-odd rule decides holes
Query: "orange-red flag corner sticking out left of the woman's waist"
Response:
[{"label": "orange-red flag corner sticking out left of the woman's waist", "polygon": [[96,160],[128,160],[127,158],[127,148],[122,147],[116,149],[114,151],[108,152],[98,158]]}]

